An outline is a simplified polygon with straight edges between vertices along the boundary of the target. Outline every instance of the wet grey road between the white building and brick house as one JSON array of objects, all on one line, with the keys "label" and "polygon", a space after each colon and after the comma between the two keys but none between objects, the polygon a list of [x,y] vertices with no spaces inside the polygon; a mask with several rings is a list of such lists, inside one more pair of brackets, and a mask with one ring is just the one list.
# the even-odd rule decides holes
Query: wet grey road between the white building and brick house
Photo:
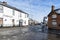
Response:
[{"label": "wet grey road between the white building and brick house", "polygon": [[52,38],[56,38],[56,35],[42,32],[40,28],[40,25],[7,29],[2,28],[0,29],[0,40],[54,40]]}]

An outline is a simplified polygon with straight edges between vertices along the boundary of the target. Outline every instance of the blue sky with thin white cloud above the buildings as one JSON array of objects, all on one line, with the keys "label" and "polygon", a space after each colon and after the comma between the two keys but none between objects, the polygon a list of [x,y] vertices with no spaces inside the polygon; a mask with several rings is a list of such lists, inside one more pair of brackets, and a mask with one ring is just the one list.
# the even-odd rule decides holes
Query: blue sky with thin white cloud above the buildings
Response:
[{"label": "blue sky with thin white cloud above the buildings", "polygon": [[60,8],[60,0],[0,0],[29,14],[29,17],[42,22],[51,11],[51,6]]}]

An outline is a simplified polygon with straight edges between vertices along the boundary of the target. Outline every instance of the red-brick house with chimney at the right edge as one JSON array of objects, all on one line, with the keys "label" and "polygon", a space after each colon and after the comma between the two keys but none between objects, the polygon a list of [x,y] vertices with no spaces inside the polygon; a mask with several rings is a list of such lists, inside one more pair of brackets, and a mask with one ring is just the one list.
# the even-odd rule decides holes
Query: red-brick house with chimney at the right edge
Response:
[{"label": "red-brick house with chimney at the right edge", "polygon": [[52,6],[51,12],[48,14],[48,28],[60,30],[60,8],[55,9]]}]

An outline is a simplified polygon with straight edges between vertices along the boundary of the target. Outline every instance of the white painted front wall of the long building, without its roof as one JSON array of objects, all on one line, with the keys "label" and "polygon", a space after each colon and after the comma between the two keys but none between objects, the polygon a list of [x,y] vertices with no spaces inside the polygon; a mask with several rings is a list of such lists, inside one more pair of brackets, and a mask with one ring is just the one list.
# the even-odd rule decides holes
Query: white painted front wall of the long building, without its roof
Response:
[{"label": "white painted front wall of the long building, without its roof", "polygon": [[[21,15],[21,17],[20,17]],[[12,19],[14,19],[15,25],[19,25],[19,20],[23,20],[22,25],[26,26],[28,25],[29,18],[25,18],[25,13],[19,12],[14,10],[13,15],[13,9],[3,6],[3,13],[0,13],[0,18],[3,18],[3,26],[13,26]],[[26,24],[24,23],[26,21]]]}]

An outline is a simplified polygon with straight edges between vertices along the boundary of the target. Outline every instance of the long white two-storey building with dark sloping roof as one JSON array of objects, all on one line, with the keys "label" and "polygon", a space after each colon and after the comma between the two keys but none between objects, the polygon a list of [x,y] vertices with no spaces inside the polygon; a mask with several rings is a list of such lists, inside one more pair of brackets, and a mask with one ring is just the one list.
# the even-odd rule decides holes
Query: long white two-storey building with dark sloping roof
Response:
[{"label": "long white two-storey building with dark sloping roof", "polygon": [[6,2],[0,2],[0,26],[11,27],[28,25],[29,14],[8,5]]}]

